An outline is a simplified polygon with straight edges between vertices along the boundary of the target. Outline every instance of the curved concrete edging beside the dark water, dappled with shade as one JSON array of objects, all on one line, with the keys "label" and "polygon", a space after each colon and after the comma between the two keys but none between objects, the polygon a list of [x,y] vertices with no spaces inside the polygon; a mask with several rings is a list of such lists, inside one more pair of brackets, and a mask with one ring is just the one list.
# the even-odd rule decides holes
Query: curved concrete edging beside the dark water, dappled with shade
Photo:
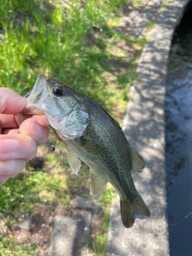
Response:
[{"label": "curved concrete edging beside the dark water, dappled with shade", "polygon": [[107,255],[166,256],[169,254],[166,223],[164,102],[166,64],[175,26],[188,0],[172,0],[160,14],[150,41],[138,64],[141,83],[130,91],[124,131],[130,145],[146,160],[142,174],[134,173],[134,184],[150,208],[151,217],[122,226],[119,202],[110,214]]}]

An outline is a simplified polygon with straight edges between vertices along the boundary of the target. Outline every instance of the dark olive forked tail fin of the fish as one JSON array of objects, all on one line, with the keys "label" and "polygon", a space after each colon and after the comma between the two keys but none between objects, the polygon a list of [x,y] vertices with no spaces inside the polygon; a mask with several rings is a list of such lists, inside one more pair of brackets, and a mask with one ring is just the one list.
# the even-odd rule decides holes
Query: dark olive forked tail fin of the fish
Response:
[{"label": "dark olive forked tail fin of the fish", "polygon": [[138,194],[137,198],[134,198],[134,202],[121,199],[120,206],[122,223],[125,227],[133,226],[136,218],[150,217],[150,210],[147,208],[140,194]]}]

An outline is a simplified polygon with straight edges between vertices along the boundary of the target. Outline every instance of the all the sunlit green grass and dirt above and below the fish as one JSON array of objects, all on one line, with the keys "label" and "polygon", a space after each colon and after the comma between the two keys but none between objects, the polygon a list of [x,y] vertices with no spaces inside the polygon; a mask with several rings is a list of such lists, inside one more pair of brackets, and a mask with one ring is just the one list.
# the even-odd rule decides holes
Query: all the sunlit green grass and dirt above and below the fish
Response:
[{"label": "all the sunlit green grass and dirt above and below the fish", "polygon": [[[141,1],[126,0],[2,1],[1,86],[24,95],[38,74],[57,77],[94,98],[121,123],[146,38],[130,37],[119,22],[124,5],[139,4]],[[56,144],[54,153],[50,152],[51,141]],[[60,206],[73,216],[70,202],[74,194],[90,198],[89,170],[83,165],[75,176],[62,148],[51,135],[38,152],[45,166],[33,170],[27,164],[26,170],[0,187],[1,254],[46,255],[45,244],[38,238],[40,227],[25,233],[18,229],[18,222],[34,214],[54,218]],[[113,197],[109,186],[101,199],[105,210],[93,216],[89,247],[95,255],[106,252]]]}]

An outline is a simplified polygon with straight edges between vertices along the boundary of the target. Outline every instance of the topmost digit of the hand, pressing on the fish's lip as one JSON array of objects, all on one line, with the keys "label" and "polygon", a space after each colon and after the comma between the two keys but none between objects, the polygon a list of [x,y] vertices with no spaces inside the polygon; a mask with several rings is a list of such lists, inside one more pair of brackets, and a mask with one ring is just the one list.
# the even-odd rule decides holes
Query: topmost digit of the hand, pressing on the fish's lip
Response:
[{"label": "topmost digit of the hand, pressing on the fish's lip", "polygon": [[0,88],[0,113],[18,114],[25,108],[26,101],[26,98],[9,88]]}]

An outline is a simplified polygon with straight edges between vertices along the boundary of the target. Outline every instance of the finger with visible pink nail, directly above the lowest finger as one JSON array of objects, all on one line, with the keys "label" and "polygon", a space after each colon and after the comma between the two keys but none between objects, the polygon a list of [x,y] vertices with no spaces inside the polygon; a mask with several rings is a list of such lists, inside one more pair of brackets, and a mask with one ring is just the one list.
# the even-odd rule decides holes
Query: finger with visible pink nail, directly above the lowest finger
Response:
[{"label": "finger with visible pink nail, directly above the lowest finger", "polygon": [[26,134],[0,135],[0,160],[25,159],[30,161],[37,154],[37,143]]}]

